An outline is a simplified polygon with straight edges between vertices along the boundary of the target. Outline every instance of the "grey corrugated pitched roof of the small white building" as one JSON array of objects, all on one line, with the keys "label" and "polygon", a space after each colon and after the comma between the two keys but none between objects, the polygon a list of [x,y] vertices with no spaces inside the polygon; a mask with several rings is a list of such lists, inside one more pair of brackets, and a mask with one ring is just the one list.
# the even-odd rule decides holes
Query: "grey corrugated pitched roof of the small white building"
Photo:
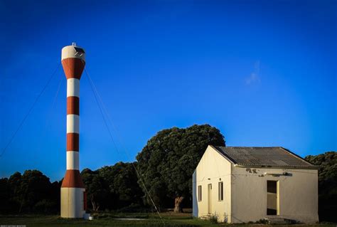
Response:
[{"label": "grey corrugated pitched roof of the small white building", "polygon": [[283,147],[212,147],[240,166],[316,169],[316,166]]}]

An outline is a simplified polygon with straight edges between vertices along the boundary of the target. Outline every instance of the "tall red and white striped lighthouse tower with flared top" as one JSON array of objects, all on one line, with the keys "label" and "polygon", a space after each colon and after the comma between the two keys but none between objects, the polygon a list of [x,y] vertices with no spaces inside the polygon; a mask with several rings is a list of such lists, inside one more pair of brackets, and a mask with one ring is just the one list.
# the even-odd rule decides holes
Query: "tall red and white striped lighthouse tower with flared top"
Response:
[{"label": "tall red and white striped lighthouse tower with flared top", "polygon": [[73,43],[62,48],[61,59],[67,78],[67,171],[61,186],[61,217],[83,218],[87,199],[79,170],[79,117],[85,51]]}]

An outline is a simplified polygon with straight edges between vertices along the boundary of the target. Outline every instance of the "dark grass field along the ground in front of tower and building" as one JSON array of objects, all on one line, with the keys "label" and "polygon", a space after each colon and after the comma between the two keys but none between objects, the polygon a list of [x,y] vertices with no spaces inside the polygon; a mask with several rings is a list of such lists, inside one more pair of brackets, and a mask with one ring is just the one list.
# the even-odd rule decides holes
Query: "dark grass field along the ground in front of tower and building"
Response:
[{"label": "dark grass field along the ground in front of tower and building", "polygon": [[[197,218],[192,218],[191,213],[161,213],[165,226],[267,226],[262,224],[225,224],[210,223]],[[116,220],[115,218],[141,218],[142,220]],[[48,215],[21,215],[21,216],[0,216],[1,225],[26,225],[30,226],[164,226],[158,215],[152,213],[101,213],[95,216],[93,221],[82,219],[70,220],[59,216]],[[306,225],[291,225],[294,227],[304,227]],[[311,227],[336,227],[336,224],[315,224]],[[277,227],[284,227],[277,225]]]}]

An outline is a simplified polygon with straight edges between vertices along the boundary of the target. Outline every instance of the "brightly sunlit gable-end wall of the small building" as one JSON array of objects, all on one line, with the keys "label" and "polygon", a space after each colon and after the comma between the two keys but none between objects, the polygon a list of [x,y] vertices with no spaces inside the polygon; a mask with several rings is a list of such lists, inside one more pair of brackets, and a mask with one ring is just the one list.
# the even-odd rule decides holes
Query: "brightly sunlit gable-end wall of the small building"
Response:
[{"label": "brightly sunlit gable-end wall of the small building", "polygon": [[[193,174],[193,216],[208,215],[208,184],[212,184],[213,214],[218,215],[219,221],[230,222],[230,174],[230,162],[208,146]],[[218,201],[219,181],[223,181],[223,201]],[[202,201],[198,201],[199,185],[202,186]]]}]

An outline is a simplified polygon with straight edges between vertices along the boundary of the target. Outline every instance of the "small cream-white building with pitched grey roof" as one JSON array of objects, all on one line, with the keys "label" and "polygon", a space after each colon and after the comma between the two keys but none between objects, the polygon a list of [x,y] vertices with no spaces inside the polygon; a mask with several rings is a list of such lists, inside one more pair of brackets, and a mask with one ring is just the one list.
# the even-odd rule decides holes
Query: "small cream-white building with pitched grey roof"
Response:
[{"label": "small cream-white building with pitched grey roof", "polygon": [[193,216],[315,223],[318,168],[282,147],[208,146],[193,173]]}]

